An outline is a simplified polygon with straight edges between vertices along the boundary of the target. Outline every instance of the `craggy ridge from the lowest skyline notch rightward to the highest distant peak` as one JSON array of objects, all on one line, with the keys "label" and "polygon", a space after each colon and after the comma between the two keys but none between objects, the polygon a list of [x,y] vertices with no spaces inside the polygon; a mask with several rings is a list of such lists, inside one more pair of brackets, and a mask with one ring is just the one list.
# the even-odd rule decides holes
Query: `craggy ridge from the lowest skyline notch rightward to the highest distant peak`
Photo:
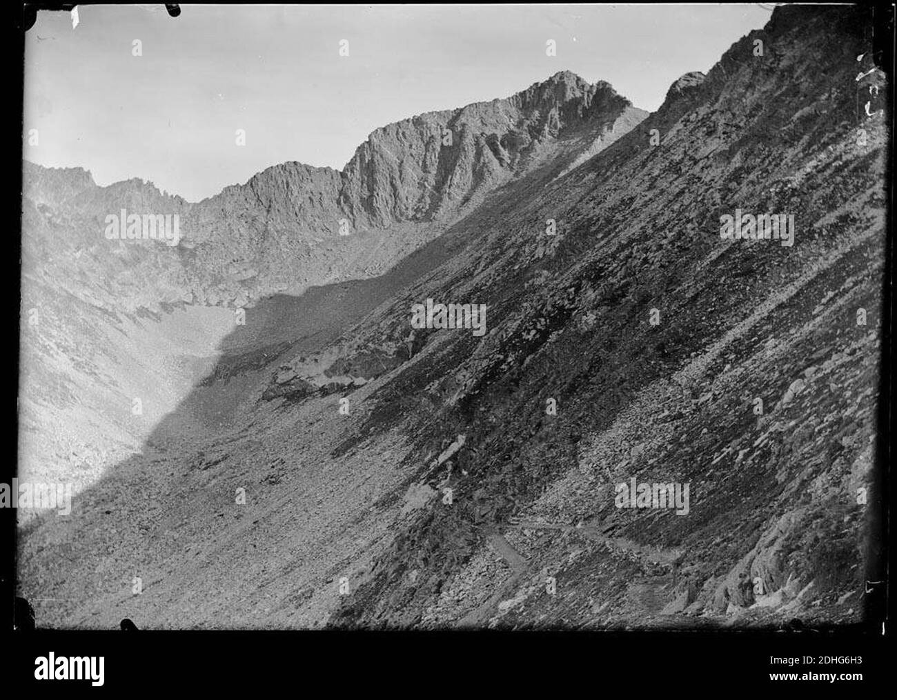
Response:
[{"label": "craggy ridge from the lowest skyline notch rightward to the highest distant peak", "polygon": [[196,204],[190,272],[214,302],[238,304],[385,272],[497,187],[645,116],[606,83],[558,73],[509,99],[405,119],[370,134],[342,172],[284,163]]}]

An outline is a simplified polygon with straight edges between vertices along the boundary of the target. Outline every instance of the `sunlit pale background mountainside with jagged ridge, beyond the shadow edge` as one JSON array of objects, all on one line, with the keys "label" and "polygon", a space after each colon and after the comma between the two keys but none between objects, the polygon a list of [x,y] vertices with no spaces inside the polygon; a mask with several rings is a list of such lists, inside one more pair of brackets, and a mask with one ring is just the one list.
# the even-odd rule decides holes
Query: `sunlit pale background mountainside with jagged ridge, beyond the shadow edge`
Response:
[{"label": "sunlit pale background mountainside with jagged ridge, beyond the shadow edge", "polygon": [[[139,452],[196,385],[196,372],[214,362],[219,343],[232,349],[256,337],[252,318],[273,311],[287,324],[281,340],[295,340],[284,328],[296,330],[296,320],[284,314],[307,313],[309,299],[332,306],[342,297],[322,285],[376,276],[344,302],[354,317],[438,264],[429,255],[383,274],[492,190],[535,170],[550,173],[646,115],[606,83],[557,73],[509,99],[379,129],[342,173],[283,163],[201,203],[137,178],[100,187],[83,169],[26,161],[22,435],[31,437],[20,441],[22,470],[75,474],[83,488]],[[122,210],[178,215],[178,245],[107,239],[107,216]],[[266,302],[281,291],[307,294],[296,307],[287,302],[292,310]],[[235,314],[248,308],[250,321],[239,327]],[[312,333],[309,325],[343,330],[333,309],[307,321],[297,333]],[[239,339],[228,339],[235,330]],[[146,406],[139,419],[135,399]],[[110,415],[111,406],[122,409]],[[41,429],[48,420],[57,433]]]}]

